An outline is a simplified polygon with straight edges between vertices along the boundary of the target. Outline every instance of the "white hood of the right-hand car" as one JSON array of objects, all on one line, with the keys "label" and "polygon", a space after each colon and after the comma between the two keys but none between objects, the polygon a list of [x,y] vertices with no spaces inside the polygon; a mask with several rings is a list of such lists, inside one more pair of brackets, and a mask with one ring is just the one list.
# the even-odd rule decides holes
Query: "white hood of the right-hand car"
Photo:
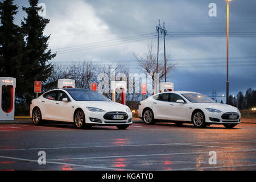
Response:
[{"label": "white hood of the right-hand car", "polygon": [[227,112],[236,112],[237,113],[237,107],[230,106],[227,104],[221,104],[221,103],[193,103],[193,104],[201,107],[201,109],[212,108],[212,109],[218,109],[218,110],[222,111],[223,113],[227,113]]}]

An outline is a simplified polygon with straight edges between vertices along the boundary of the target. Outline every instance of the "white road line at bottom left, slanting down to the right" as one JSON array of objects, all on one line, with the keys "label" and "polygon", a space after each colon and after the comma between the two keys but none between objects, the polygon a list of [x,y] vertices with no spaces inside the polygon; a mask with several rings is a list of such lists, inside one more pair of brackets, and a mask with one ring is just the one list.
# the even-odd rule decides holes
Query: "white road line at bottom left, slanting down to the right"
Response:
[{"label": "white road line at bottom left, slanting down to the right", "polygon": [[[0,155],[0,158],[14,159],[14,160],[23,160],[23,161],[38,163],[38,160],[14,158],[14,157],[10,157],[10,156],[1,156]],[[85,167],[85,168],[98,168],[98,169],[108,169],[108,170],[111,169],[111,170],[129,170],[129,171],[132,171],[131,169],[124,169],[124,168],[111,168],[111,167],[88,166],[88,165],[60,163],[60,162],[48,162],[48,160],[46,161],[46,164],[59,164],[59,165],[68,165],[68,166]]]}]

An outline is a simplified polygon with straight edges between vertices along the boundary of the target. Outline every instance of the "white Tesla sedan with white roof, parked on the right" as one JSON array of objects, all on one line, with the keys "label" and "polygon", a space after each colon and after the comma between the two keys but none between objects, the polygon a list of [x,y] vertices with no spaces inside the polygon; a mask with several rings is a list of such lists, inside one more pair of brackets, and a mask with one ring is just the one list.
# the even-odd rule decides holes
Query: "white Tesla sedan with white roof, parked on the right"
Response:
[{"label": "white Tesla sedan with white roof, parked on the right", "polygon": [[183,91],[155,94],[141,101],[139,117],[146,124],[165,120],[177,125],[193,123],[196,127],[218,124],[232,128],[241,122],[237,107],[217,103],[201,93]]}]

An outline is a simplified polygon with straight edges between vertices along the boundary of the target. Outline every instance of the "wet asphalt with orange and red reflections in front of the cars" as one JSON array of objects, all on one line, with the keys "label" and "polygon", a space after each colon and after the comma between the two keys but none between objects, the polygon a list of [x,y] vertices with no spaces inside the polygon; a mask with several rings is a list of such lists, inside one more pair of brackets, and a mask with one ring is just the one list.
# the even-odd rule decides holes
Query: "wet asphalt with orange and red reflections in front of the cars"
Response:
[{"label": "wet asphalt with orange and red reflections in front of the cars", "polygon": [[[0,170],[255,170],[255,134],[253,123],[234,129],[133,123],[127,130],[0,124]],[[39,151],[46,164],[38,163]],[[209,164],[210,151],[216,164]]]}]

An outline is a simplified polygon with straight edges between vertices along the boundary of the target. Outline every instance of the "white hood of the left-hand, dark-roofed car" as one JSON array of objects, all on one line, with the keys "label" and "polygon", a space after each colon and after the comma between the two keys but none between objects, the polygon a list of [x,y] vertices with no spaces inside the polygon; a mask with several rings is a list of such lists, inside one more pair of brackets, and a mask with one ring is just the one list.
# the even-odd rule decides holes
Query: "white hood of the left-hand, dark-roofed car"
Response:
[{"label": "white hood of the left-hand, dark-roofed car", "polygon": [[125,112],[128,106],[111,101],[77,101],[82,107],[97,107],[99,109],[110,111],[123,111]]}]

